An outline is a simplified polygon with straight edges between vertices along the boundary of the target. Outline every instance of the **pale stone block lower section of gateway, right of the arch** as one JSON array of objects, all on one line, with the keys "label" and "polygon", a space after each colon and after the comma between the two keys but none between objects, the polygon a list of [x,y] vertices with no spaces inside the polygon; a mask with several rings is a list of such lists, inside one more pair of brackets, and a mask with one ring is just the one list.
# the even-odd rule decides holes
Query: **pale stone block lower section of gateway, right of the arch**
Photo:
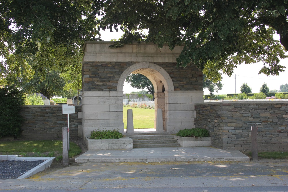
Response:
[{"label": "pale stone block lower section of gateway, right of the arch", "polygon": [[195,128],[195,103],[203,102],[203,91],[165,91],[165,131],[175,134],[179,130]]}]

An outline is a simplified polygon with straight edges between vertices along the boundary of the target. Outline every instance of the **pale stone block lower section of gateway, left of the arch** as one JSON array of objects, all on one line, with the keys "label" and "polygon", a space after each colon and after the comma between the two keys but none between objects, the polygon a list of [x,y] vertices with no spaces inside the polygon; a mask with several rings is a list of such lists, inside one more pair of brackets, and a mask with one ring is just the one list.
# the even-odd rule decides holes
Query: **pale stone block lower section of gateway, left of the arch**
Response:
[{"label": "pale stone block lower section of gateway, left of the arch", "polygon": [[119,129],[124,134],[123,91],[82,93],[83,138],[94,130]]}]

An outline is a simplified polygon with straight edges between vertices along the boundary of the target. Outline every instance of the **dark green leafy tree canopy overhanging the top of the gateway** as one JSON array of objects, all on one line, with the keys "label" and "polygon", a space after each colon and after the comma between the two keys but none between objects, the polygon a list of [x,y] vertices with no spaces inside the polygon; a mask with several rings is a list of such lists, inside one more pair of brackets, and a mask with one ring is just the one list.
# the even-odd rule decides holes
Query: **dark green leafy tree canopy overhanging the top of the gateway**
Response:
[{"label": "dark green leafy tree canopy overhanging the top of the gateway", "polygon": [[173,49],[185,43],[178,66],[192,62],[214,81],[221,79],[219,71],[231,75],[241,63],[263,62],[259,73],[278,75],[288,50],[287,9],[288,0],[2,0],[0,67],[17,76],[29,72],[29,57],[52,54],[53,67],[65,69],[65,58],[84,41],[100,40],[100,29],[120,28],[125,33],[114,47],[145,41]]}]

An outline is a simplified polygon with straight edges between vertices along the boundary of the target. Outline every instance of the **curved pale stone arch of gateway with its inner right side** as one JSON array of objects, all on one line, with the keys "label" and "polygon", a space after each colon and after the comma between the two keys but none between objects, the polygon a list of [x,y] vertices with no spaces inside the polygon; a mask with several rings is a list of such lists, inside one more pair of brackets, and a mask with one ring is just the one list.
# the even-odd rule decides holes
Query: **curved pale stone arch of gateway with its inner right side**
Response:
[{"label": "curved pale stone arch of gateway with its inner right side", "polygon": [[[154,86],[155,118],[154,129],[156,129],[157,109],[162,109],[163,127],[165,128],[165,94],[164,91],[174,91],[172,79],[169,74],[160,66],[151,62],[141,62],[130,66],[120,76],[117,91],[123,91],[125,79],[130,73],[146,76]],[[136,127],[134,127],[135,129]]]}]

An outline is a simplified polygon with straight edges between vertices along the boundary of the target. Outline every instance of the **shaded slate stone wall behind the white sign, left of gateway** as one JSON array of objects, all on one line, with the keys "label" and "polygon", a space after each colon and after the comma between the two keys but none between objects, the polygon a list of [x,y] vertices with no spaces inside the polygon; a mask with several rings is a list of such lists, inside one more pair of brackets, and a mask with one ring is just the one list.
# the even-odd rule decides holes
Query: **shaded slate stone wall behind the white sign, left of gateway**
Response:
[{"label": "shaded slate stone wall behind the white sign, left of gateway", "polygon": [[[62,105],[23,105],[21,115],[24,117],[21,139],[50,140],[62,138],[62,127],[67,127],[67,114],[62,114]],[[75,106],[75,113],[69,114],[70,137],[78,136],[78,112],[81,105]]]}]

